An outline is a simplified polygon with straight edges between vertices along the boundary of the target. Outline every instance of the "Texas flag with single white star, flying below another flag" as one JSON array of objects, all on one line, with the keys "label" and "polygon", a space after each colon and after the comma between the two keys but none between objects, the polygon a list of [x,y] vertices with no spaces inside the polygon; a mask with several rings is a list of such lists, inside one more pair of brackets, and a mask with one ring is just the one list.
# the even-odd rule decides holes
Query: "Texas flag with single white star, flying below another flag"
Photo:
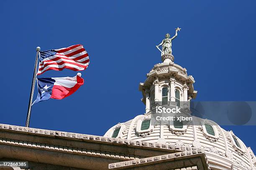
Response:
[{"label": "Texas flag with single white star, flying below another flag", "polygon": [[37,78],[38,95],[33,104],[49,98],[63,99],[72,95],[83,84],[81,73],[74,77]]}]

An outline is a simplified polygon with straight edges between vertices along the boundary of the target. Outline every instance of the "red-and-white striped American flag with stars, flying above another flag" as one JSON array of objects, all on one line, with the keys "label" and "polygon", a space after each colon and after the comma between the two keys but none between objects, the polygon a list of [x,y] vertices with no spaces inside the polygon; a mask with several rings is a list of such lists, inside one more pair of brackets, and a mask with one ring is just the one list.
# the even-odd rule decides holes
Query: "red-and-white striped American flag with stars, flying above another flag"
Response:
[{"label": "red-and-white striped American flag with stars, flying above another flag", "polygon": [[61,71],[64,68],[80,71],[89,65],[89,55],[80,44],[57,50],[40,51],[37,75],[48,70]]}]

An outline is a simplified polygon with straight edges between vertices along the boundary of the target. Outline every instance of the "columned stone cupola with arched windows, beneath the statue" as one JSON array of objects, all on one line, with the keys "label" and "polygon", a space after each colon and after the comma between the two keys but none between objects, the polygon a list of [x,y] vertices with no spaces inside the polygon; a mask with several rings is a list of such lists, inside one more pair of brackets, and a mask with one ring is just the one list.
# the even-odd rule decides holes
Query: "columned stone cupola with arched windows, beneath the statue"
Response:
[{"label": "columned stone cupola with arched windows, beneath the statue", "polygon": [[147,73],[145,82],[139,84],[142,102],[146,105],[146,113],[154,108],[154,104],[186,107],[187,103],[197,96],[192,75],[187,75],[186,68],[174,63],[172,54],[161,56],[162,63],[154,65]]}]

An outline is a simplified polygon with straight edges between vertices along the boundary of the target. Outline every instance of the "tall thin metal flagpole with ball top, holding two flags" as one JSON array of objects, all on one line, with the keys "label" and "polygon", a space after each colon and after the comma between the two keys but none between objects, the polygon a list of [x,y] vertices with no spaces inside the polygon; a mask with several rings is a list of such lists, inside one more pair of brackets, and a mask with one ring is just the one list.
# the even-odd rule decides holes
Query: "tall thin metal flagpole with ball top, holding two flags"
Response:
[{"label": "tall thin metal flagpole with ball top, holding two flags", "polygon": [[36,47],[36,62],[34,67],[34,75],[33,75],[33,81],[31,86],[31,92],[29,97],[29,103],[28,103],[28,115],[26,120],[26,127],[29,127],[29,120],[30,120],[30,113],[31,113],[31,106],[32,106],[32,100],[33,100],[33,94],[35,90],[35,84],[36,84],[36,73],[37,73],[37,65],[38,65],[38,56],[40,55],[40,47]]}]

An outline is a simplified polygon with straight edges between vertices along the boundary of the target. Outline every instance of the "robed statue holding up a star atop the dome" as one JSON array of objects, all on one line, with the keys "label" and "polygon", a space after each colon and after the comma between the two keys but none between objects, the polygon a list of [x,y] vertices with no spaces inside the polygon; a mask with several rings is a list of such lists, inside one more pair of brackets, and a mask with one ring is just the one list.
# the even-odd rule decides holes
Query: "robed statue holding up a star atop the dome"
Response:
[{"label": "robed statue holding up a star atop the dome", "polygon": [[160,50],[159,46],[162,45],[161,56],[165,54],[172,54],[172,40],[177,37],[178,31],[180,31],[181,28],[176,28],[175,35],[170,38],[169,33],[165,35],[165,39],[162,40],[162,42],[159,45],[156,45],[156,48]]}]

